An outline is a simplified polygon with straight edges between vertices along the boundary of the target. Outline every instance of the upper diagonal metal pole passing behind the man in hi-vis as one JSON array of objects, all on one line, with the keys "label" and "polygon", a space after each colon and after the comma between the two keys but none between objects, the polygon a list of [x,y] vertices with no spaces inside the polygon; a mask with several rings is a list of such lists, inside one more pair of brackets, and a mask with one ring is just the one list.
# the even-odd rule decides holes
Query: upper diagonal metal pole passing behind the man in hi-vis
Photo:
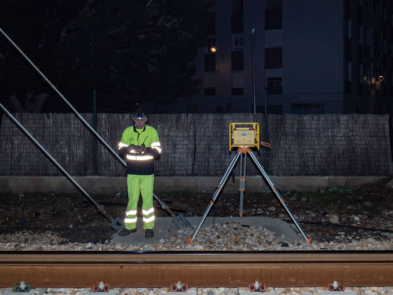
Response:
[{"label": "upper diagonal metal pole passing behind the man in hi-vis", "polygon": [[[27,59],[27,61],[37,70],[37,72],[39,72],[39,74],[49,83],[49,85],[51,85],[51,87],[57,92],[57,94],[59,94],[61,96],[61,98],[67,103],[67,105],[72,109],[72,111],[75,113],[75,115],[83,122],[83,124],[99,139],[99,141],[108,149],[108,151],[110,151],[110,153],[112,153],[116,159],[119,160],[119,162],[121,164],[123,164],[123,166],[127,167],[127,164],[123,161],[123,159],[120,158],[120,156],[118,155],[118,153],[116,153],[112,147],[110,147],[107,142],[105,140],[103,140],[103,138],[97,133],[97,131],[94,130],[93,127],[90,126],[90,124],[88,124],[88,122],[86,120],[84,120],[84,118],[78,113],[78,111],[72,106],[72,104],[66,100],[66,98],[59,92],[59,90],[57,90],[57,88],[48,80],[47,77],[45,77],[44,74],[42,74],[42,72],[39,70],[39,68],[37,68],[37,66],[26,56],[26,54],[24,54],[22,52],[22,50],[20,50],[20,48],[17,46],[17,44],[15,44],[14,41],[11,40],[11,38],[8,37],[8,35],[2,30],[2,28],[0,28],[1,33],[8,39],[9,42],[11,42],[13,44],[13,46],[15,46],[15,48],[17,48],[17,50],[22,53],[22,55]],[[158,201],[158,203],[160,203],[160,205],[162,206],[162,208],[164,210],[167,210],[167,212],[169,214],[171,214],[171,216],[173,216],[174,218],[176,218],[176,216],[174,215],[174,213],[169,209],[168,206],[166,206],[165,203],[163,203],[154,193],[153,193],[153,197],[156,198],[156,200]],[[178,216],[179,218],[181,218],[181,221],[183,221],[188,227],[191,227],[191,225],[188,223],[188,221],[185,219],[184,216],[180,215]]]}]

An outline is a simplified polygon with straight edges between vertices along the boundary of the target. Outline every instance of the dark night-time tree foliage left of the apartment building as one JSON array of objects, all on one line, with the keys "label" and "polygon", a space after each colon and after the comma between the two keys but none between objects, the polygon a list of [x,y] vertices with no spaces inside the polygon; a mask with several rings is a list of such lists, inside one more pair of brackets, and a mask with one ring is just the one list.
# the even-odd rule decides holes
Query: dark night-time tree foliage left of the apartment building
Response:
[{"label": "dark night-time tree foliage left of the apartment building", "polygon": [[[187,62],[209,37],[210,0],[2,0],[0,28],[61,93],[192,96]],[[0,34],[0,100],[39,111],[51,86]],[[16,96],[15,96],[16,94]]]}]

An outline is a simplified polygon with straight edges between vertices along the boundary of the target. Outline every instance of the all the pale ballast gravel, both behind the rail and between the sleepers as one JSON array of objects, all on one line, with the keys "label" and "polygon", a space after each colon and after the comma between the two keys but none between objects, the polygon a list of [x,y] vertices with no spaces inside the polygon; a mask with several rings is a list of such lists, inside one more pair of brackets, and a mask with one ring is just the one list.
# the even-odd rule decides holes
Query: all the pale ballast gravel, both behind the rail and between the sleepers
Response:
[{"label": "all the pale ballast gravel, both behind the rail and between the sleepers", "polygon": [[[184,228],[160,240],[156,245],[151,244],[114,244],[106,243],[68,243],[59,232],[34,233],[21,231],[14,234],[0,235],[0,251],[263,251],[263,250],[393,250],[393,235],[386,234],[386,239],[365,238],[356,239],[337,233],[332,242],[311,243],[280,242],[274,238],[274,233],[261,227],[242,227],[240,223],[218,223],[198,231],[192,244],[188,237],[193,232]],[[282,237],[285,238],[285,237]],[[147,240],[148,241],[148,240]],[[160,295],[168,292],[169,288],[123,288],[119,295]],[[240,287],[240,289],[246,289]],[[239,288],[198,288],[196,295],[241,295]],[[0,295],[7,288],[0,288]],[[274,288],[266,286],[266,292],[276,295],[319,295],[326,287],[286,287]],[[48,295],[83,295],[84,288],[49,288]],[[169,289],[170,291],[170,289]],[[248,291],[248,288],[246,289]],[[345,291],[354,291],[359,295],[393,295],[393,287],[346,287]],[[272,293],[270,293],[272,294]]]}]

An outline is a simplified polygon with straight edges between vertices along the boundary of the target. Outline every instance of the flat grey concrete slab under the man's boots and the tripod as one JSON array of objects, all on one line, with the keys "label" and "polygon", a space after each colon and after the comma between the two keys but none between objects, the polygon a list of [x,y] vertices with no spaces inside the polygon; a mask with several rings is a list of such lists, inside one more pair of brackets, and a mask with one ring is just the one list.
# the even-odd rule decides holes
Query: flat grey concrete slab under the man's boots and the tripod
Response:
[{"label": "flat grey concrete slab under the man's boots and the tripod", "polygon": [[[186,217],[188,222],[196,228],[196,226],[202,220],[202,217]],[[290,227],[288,223],[282,221],[277,218],[269,218],[264,216],[255,216],[255,217],[215,217],[214,223],[226,223],[226,222],[238,222],[242,225],[256,226],[267,229],[271,232],[275,232],[274,236],[277,240],[286,242],[287,240],[291,241],[299,241],[298,236],[294,232],[294,230]],[[201,225],[201,229],[203,227],[207,227],[213,224],[213,217],[208,216],[205,218],[204,222]],[[178,227],[173,223],[173,217],[156,217],[154,221],[154,237],[153,238],[145,238],[145,232],[141,231],[143,228],[143,220],[142,218],[138,218],[136,222],[136,228],[138,229],[135,233],[131,233],[128,236],[121,237],[117,233],[112,239],[111,243],[115,244],[158,244],[161,239],[166,239],[167,236],[172,236],[173,234],[177,234]],[[200,231],[199,230],[199,231]],[[284,238],[282,236],[284,235]]]}]

